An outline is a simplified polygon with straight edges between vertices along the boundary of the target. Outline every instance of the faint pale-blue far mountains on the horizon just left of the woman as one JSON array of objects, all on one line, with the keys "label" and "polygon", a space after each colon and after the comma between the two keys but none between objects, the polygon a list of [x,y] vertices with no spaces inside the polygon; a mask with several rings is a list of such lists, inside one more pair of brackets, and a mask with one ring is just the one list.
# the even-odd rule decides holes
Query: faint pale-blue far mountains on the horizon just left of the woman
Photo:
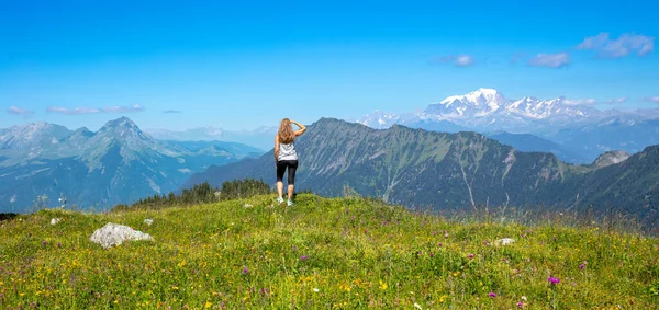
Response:
[{"label": "faint pale-blue far mountains on the horizon just left of the woman", "polygon": [[216,127],[200,127],[185,131],[166,129],[146,129],[145,131],[158,140],[175,141],[226,141],[239,142],[259,149],[269,150],[273,147],[275,134],[278,127],[261,126],[255,130],[224,130]]}]

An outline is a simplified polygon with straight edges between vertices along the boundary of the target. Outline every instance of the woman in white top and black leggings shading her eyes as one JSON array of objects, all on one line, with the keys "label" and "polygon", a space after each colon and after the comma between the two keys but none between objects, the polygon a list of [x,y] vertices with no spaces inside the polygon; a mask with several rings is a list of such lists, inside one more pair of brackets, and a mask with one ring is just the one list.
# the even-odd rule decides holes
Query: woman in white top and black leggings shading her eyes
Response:
[{"label": "woman in white top and black leggings shading her eyes", "polygon": [[[300,127],[300,130],[293,131],[295,124]],[[295,152],[295,137],[304,134],[306,127],[304,125],[290,120],[288,118],[281,119],[279,124],[279,131],[275,136],[275,165],[277,167],[277,202],[283,203],[283,173],[288,168],[288,206],[292,206],[293,191],[295,190],[295,170],[298,169],[298,152]]]}]

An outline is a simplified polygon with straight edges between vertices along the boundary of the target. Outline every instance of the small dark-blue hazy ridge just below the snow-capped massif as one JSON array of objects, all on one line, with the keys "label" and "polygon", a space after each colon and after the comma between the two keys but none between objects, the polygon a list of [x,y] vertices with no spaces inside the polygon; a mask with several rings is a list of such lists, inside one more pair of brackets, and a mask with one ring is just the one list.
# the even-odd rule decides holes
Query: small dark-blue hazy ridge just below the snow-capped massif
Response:
[{"label": "small dark-blue hazy ridge just below the snow-capped massif", "polygon": [[503,145],[509,145],[518,151],[523,152],[549,152],[554,153],[558,159],[569,163],[590,163],[592,159],[588,156],[582,156],[579,152],[573,152],[565,147],[552,141],[534,136],[530,134],[511,134],[505,131],[484,134],[488,138],[494,139]]}]

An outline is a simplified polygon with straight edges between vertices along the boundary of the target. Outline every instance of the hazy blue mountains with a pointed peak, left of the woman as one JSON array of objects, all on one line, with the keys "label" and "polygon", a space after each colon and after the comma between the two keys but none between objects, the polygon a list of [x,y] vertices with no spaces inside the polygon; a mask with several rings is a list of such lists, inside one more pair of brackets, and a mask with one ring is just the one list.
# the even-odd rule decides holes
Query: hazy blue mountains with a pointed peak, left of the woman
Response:
[{"label": "hazy blue mountains with a pointed peak, left of the woman", "polygon": [[211,164],[261,153],[239,143],[158,141],[125,117],[97,133],[45,123],[0,133],[0,213],[29,210],[42,195],[48,206],[65,195],[69,205],[107,209],[175,191]]}]

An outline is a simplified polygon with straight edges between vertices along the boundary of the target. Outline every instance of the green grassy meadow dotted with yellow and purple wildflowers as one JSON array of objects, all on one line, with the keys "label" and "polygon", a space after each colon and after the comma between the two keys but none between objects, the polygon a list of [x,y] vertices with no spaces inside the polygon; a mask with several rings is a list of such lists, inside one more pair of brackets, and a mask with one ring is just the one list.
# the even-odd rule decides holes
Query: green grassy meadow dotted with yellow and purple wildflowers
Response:
[{"label": "green grassy meadow dotted with yellow and purple wildflowers", "polygon": [[[656,238],[560,223],[459,223],[360,198],[303,194],[294,207],[272,202],[41,210],[2,221],[0,308],[656,309],[659,302]],[[64,220],[51,226],[55,217]],[[103,250],[89,237],[109,221],[156,241]],[[516,242],[493,245],[505,237]],[[551,285],[550,276],[560,283]]]}]

